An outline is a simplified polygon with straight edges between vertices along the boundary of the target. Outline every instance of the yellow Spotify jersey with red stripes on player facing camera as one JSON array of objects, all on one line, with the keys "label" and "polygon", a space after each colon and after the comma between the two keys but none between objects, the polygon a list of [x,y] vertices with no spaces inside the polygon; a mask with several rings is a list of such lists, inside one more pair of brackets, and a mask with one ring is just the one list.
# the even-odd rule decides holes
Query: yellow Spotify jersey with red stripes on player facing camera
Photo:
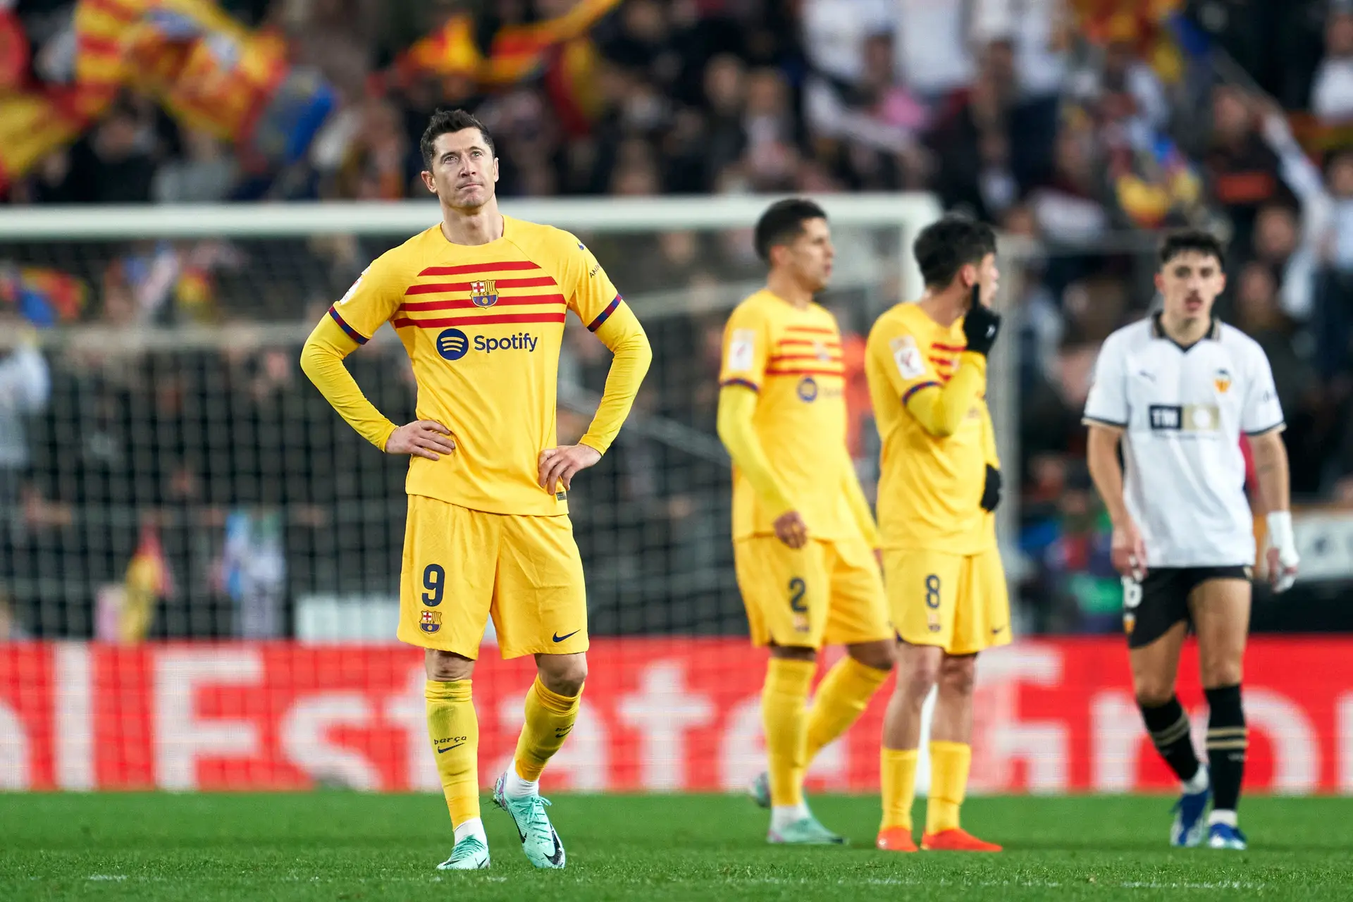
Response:
[{"label": "yellow Spotify jersey with red stripes on player facing camera", "polygon": [[572,310],[614,353],[582,442],[605,453],[652,360],[648,338],[601,264],[567,231],[503,216],[486,245],[453,245],[441,224],[386,252],[329,308],[302,352],[325,398],[376,448],[395,425],[357,388],[342,358],[386,322],[413,361],[417,417],[456,442],[413,457],[406,490],[492,514],[568,513],[538,484],[540,452],[557,445],[559,348]]}]

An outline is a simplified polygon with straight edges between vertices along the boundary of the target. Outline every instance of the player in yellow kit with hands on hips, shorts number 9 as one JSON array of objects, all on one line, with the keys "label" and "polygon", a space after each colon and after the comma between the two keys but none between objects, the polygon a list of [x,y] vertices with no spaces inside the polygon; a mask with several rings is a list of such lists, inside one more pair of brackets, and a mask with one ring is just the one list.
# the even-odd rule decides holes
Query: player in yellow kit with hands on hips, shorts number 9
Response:
[{"label": "player in yellow kit with hands on hips, shorts number 9", "polygon": [[[441,222],[376,258],[306,341],[302,366],[376,448],[410,454],[399,638],[426,649],[428,733],[456,845],[444,870],[488,867],[479,818],[471,675],[491,615],[503,657],[537,676],[494,801],[541,868],[564,847],[540,774],[578,717],[587,603],[567,492],[601,460],[652,353],[601,264],[574,235],[498,212],[498,158],[469,114],[438,111],[421,142]],[[559,446],[555,391],[568,311],[614,353],[579,444]],[[386,419],[342,360],[390,322],[413,361],[418,419]]]}]

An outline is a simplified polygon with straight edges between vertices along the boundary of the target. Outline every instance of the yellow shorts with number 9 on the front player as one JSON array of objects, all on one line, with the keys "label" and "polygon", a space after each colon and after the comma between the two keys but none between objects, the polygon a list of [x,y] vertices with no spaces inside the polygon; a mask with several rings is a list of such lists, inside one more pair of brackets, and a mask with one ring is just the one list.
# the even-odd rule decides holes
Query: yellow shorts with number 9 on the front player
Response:
[{"label": "yellow shorts with number 9 on the front player", "polygon": [[479,657],[587,650],[583,563],[567,517],[515,517],[409,496],[399,641]]}]

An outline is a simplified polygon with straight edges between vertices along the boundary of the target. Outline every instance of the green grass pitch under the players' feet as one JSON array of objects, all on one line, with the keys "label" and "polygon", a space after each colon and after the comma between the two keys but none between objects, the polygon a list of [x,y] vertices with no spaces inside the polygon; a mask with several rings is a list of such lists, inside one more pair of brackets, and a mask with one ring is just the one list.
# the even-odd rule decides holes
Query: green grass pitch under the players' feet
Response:
[{"label": "green grass pitch under the players' feet", "polygon": [[874,851],[874,798],[813,807],[854,844],[769,848],[737,797],[563,795],[568,868],[543,872],[486,799],[492,868],[441,874],[434,795],[3,795],[0,899],[1353,898],[1353,799],[1246,799],[1239,853],[1169,849],[1165,798],[970,799],[1008,848],[985,856]]}]

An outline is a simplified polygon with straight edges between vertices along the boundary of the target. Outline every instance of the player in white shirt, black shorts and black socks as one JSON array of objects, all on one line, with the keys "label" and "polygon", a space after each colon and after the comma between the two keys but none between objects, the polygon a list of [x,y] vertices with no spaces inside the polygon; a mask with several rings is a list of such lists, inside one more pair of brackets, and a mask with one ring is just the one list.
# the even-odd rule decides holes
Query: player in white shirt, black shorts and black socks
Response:
[{"label": "player in white shirt, black shorts and black socks", "polygon": [[[1170,842],[1197,845],[1206,830],[1212,848],[1243,849],[1235,806],[1247,745],[1241,663],[1254,531],[1241,433],[1268,511],[1269,579],[1281,592],[1298,565],[1283,410],[1262,349],[1212,318],[1226,287],[1220,242],[1204,231],[1173,233],[1160,258],[1164,308],[1119,329],[1100,350],[1085,402],[1089,469],[1114,522],[1137,703],[1157,751],[1184,783]],[[1208,703],[1207,767],[1174,694],[1189,626]]]}]

